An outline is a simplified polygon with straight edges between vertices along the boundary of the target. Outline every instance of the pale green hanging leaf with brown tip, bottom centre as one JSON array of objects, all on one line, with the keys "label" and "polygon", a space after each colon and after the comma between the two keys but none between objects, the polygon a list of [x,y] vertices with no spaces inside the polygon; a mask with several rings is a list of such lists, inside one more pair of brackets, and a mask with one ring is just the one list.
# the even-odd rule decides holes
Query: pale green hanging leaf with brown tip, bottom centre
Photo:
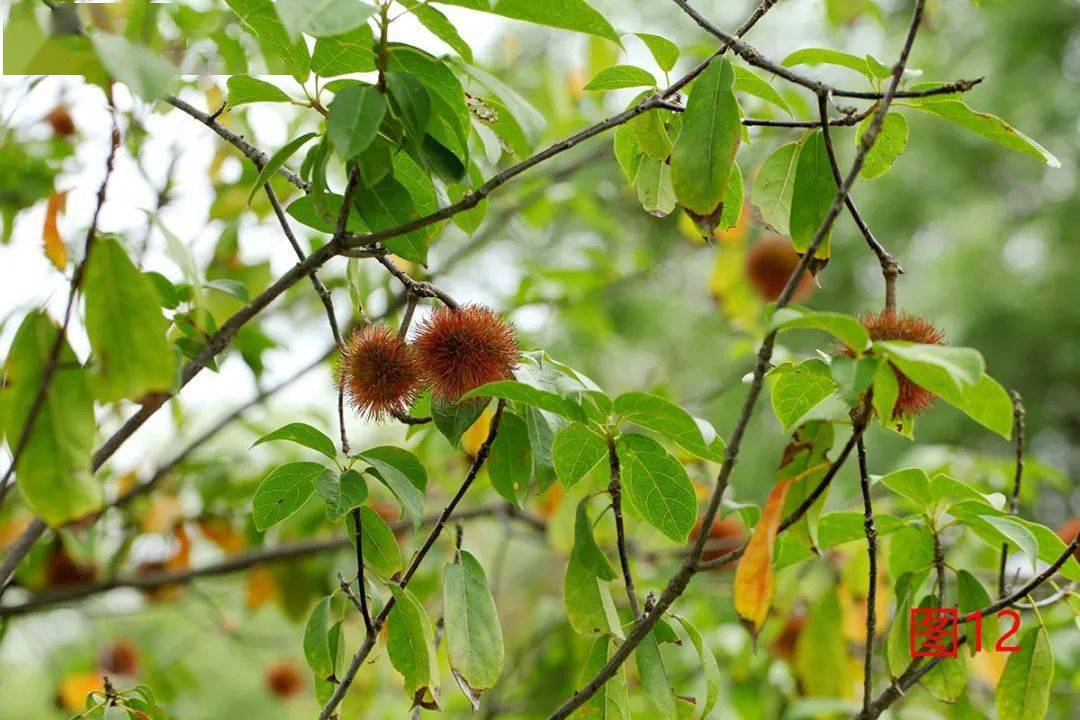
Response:
[{"label": "pale green hanging leaf with brown tip, bottom centre", "polygon": [[443,571],[446,653],[454,677],[473,704],[495,685],[502,671],[502,628],[484,568],[461,551]]}]

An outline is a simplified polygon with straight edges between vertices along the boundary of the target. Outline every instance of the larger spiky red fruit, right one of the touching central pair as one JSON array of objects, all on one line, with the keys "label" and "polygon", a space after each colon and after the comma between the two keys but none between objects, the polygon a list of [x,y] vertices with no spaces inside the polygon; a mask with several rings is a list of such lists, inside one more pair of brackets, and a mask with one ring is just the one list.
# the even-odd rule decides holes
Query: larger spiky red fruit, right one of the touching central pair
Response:
[{"label": "larger spiky red fruit, right one of the touching central pair", "polygon": [[514,326],[483,305],[440,308],[423,322],[415,344],[432,395],[448,400],[511,378],[517,364]]}]

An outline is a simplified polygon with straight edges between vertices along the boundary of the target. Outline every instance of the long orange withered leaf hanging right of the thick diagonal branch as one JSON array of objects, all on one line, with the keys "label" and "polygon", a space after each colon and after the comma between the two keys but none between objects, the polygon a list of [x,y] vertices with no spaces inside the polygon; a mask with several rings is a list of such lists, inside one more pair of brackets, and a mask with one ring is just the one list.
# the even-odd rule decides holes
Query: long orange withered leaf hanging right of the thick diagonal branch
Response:
[{"label": "long orange withered leaf hanging right of the thick diagonal branch", "polygon": [[735,568],[735,612],[757,635],[772,603],[772,548],[792,480],[778,483],[761,508],[761,519]]}]

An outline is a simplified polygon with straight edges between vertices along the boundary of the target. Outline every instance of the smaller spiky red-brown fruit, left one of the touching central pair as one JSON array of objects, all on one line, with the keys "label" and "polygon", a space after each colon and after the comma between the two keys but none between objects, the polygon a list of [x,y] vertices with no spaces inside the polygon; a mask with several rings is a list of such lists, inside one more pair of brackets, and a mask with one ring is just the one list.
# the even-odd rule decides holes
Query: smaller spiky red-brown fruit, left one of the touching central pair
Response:
[{"label": "smaller spiky red-brown fruit, left one of the touching central pair", "polygon": [[369,420],[405,413],[420,389],[416,351],[388,325],[368,325],[346,341],[338,382],[349,404]]}]

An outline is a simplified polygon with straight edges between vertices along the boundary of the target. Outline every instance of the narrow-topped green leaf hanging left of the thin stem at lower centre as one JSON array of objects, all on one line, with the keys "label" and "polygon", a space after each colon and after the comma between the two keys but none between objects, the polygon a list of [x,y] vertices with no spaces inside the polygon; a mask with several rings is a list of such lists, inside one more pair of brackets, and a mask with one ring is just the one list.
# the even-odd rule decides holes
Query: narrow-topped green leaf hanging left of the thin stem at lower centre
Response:
[{"label": "narrow-topped green leaf hanging left of the thin stem at lower centre", "polygon": [[[612,631],[605,603],[611,601],[607,583],[615,580],[615,568],[593,538],[588,499],[578,504],[573,525],[573,546],[563,581],[563,602],[570,627],[576,633]],[[605,597],[606,596],[606,597]],[[618,628],[618,619],[615,627]]]}]

